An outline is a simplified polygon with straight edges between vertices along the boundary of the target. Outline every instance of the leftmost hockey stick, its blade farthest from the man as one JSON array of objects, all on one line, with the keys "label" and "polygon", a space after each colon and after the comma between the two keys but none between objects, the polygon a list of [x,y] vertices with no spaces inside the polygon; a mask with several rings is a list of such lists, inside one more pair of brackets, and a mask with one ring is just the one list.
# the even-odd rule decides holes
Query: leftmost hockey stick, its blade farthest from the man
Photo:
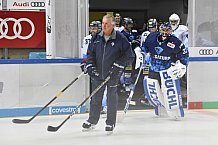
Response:
[{"label": "leftmost hockey stick, its blade farthest from the man", "polygon": [[24,120],[24,119],[13,119],[13,123],[18,124],[25,124],[32,121],[37,115],[39,115],[40,112],[42,112],[49,104],[51,104],[54,100],[56,100],[64,91],[66,91],[74,82],[76,82],[84,73],[82,72],[80,75],[78,75],[70,84],[68,84],[64,89],[62,89],[50,102],[48,102],[43,108],[41,108],[34,116],[32,116],[30,119]]}]

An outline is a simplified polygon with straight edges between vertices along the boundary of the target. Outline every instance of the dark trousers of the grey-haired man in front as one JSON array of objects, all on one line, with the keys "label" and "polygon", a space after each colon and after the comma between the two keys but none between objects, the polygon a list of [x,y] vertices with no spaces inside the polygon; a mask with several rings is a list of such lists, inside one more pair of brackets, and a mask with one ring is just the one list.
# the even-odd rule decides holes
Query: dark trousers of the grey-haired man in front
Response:
[{"label": "dark trousers of the grey-haired man in front", "polygon": [[[92,80],[92,89],[97,88],[103,80],[94,79]],[[119,77],[112,77],[107,83],[107,125],[115,125],[117,106],[118,106],[118,95],[117,95],[117,85],[119,82]],[[105,85],[105,86],[106,86]],[[102,99],[105,90],[103,86],[92,98],[90,102],[90,112],[88,122],[92,124],[97,124],[100,118],[100,112],[102,107]]]}]

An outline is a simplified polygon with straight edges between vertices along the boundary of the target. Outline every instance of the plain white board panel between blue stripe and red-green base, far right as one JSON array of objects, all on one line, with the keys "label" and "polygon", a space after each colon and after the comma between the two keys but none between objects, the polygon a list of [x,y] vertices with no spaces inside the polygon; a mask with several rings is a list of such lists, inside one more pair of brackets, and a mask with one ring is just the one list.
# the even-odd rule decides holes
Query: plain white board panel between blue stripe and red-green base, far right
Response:
[{"label": "plain white board panel between blue stripe and red-green base, far right", "polygon": [[188,66],[188,101],[218,101],[218,62],[190,62]]}]

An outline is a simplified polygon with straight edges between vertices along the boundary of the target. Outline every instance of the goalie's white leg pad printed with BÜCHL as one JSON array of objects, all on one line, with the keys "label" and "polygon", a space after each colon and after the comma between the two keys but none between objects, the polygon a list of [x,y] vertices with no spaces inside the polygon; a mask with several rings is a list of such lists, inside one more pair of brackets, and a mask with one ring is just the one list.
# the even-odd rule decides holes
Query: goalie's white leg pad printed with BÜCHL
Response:
[{"label": "goalie's white leg pad printed with B\u00dcCHL", "polygon": [[179,80],[172,79],[167,70],[160,71],[164,104],[170,117],[184,117]]}]

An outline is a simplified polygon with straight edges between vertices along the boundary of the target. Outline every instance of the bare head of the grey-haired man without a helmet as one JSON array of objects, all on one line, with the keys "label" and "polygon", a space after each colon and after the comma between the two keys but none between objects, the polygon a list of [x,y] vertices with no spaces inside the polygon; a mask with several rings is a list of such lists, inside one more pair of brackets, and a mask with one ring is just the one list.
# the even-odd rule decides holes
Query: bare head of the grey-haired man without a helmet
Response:
[{"label": "bare head of the grey-haired man without a helmet", "polygon": [[114,22],[112,21],[112,18],[103,17],[102,31],[104,32],[104,35],[110,36],[112,34],[113,29]]}]

